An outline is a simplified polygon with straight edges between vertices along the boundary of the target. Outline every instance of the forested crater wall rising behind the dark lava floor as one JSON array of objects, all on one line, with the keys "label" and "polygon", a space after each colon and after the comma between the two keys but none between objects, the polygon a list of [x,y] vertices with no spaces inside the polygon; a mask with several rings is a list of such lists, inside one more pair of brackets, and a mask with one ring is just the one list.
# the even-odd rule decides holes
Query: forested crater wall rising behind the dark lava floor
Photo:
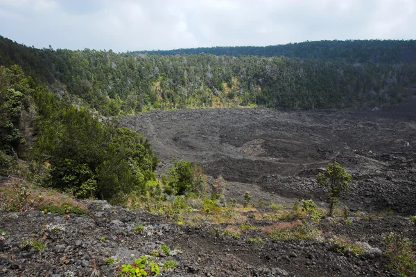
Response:
[{"label": "forested crater wall rising behind the dark lava floor", "polygon": [[[104,116],[253,105],[343,109],[403,100],[408,87],[416,84],[414,45],[413,41],[305,42],[284,46],[299,57],[233,57],[55,51],[0,37],[0,64],[18,64],[56,95]],[[309,54],[303,55],[305,51]],[[379,53],[375,58],[379,62],[372,62],[374,53]]]}]

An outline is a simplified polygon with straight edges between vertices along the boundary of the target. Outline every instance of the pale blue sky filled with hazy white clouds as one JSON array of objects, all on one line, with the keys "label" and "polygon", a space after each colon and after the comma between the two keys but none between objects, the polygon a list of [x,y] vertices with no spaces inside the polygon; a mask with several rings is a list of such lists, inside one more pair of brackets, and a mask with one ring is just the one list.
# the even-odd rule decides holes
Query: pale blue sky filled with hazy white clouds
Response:
[{"label": "pale blue sky filled with hazy white clouds", "polygon": [[0,0],[0,35],[116,52],[416,39],[416,0]]}]

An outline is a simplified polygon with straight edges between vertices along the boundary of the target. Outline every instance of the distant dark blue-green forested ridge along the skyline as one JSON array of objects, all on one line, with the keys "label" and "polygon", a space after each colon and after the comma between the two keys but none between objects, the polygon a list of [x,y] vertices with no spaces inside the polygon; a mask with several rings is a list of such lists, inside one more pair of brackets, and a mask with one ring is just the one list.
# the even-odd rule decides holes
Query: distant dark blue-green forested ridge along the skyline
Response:
[{"label": "distant dark blue-green forested ridge along the skyline", "polygon": [[416,62],[415,40],[324,40],[270,46],[201,47],[174,50],[137,51],[150,55],[213,55],[285,56],[348,62]]}]

